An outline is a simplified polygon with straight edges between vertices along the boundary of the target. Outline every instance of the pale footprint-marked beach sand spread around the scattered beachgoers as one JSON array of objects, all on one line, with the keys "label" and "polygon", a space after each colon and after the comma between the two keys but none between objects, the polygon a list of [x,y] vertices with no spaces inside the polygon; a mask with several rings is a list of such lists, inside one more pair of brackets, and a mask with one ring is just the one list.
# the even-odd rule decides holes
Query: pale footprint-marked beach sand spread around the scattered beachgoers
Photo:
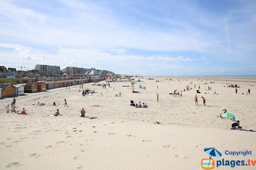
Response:
[{"label": "pale footprint-marked beach sand spread around the scattered beachgoers", "polygon": [[[141,93],[131,93],[131,87],[122,87],[130,85],[129,82],[112,82],[112,88],[106,89],[85,84],[84,88],[95,88],[98,92],[93,96],[83,97],[79,86],[72,86],[70,90],[50,89],[16,97],[16,110],[25,107],[30,115],[6,113],[5,106],[12,97],[1,99],[0,169],[202,169],[201,160],[209,158],[203,151],[205,147],[215,147],[223,154],[212,157],[215,161],[256,160],[255,132],[231,131],[231,120],[217,118],[226,108],[237,116],[243,128],[256,130],[256,88],[249,86],[254,79],[226,81],[217,77],[211,78],[215,83],[210,84],[208,78],[202,82],[197,77],[179,77],[179,83],[164,83],[165,77],[154,77],[161,82],[146,78],[135,84],[135,90]],[[212,90],[200,85],[198,94],[196,85],[196,89],[192,86],[182,96],[169,94],[184,89],[189,82],[207,82],[207,88],[209,85]],[[236,94],[235,88],[223,87],[226,83],[241,88],[237,88]],[[139,89],[139,84],[146,86],[146,90]],[[248,88],[251,95],[246,96]],[[121,97],[114,97],[119,92]],[[193,102],[195,94],[199,96],[198,106]],[[201,96],[206,98],[207,106],[203,106]],[[68,108],[64,107],[64,98]],[[144,102],[148,108],[131,107],[130,100]],[[53,101],[57,106],[53,106]],[[32,105],[38,102],[46,105]],[[98,118],[80,117],[82,107],[86,115]],[[57,108],[63,116],[48,116]],[[153,124],[154,121],[163,124]],[[226,150],[249,150],[252,155],[230,156],[225,155]]]}]

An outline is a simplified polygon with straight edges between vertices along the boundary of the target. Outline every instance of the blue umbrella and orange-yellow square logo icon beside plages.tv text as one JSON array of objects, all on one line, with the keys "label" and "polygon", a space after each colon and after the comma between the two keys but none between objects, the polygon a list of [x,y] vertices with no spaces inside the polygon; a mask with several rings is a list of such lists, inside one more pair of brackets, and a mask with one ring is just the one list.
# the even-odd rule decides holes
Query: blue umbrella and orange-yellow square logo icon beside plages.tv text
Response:
[{"label": "blue umbrella and orange-yellow square logo icon beside plages.tv text", "polygon": [[215,166],[214,159],[211,159],[212,156],[214,157],[221,157],[221,152],[217,149],[213,148],[204,148],[204,152],[211,155],[210,159],[202,159],[201,165],[203,169],[213,169]]}]

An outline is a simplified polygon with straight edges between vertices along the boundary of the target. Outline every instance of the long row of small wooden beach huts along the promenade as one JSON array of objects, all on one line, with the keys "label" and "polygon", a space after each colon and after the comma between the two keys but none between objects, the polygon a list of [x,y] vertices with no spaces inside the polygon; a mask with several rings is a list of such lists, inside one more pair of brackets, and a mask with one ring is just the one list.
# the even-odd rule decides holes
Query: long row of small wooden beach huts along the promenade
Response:
[{"label": "long row of small wooden beach huts along the promenade", "polygon": [[[90,82],[98,82],[104,80],[104,78],[94,78]],[[82,80],[63,80],[63,81],[49,81],[49,82],[27,82],[25,85],[12,85],[12,84],[0,84],[0,98],[10,96],[20,96],[25,93],[43,92],[46,89],[60,88],[67,85],[79,85],[89,83],[89,79]]]}]

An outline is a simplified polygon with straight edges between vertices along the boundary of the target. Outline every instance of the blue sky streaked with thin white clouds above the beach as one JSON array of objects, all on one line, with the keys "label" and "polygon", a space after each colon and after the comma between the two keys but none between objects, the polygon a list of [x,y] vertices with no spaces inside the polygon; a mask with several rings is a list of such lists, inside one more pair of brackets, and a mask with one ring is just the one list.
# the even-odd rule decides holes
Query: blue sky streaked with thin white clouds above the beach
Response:
[{"label": "blue sky streaked with thin white clouds above the beach", "polygon": [[0,65],[256,75],[255,9],[255,0],[0,0]]}]

